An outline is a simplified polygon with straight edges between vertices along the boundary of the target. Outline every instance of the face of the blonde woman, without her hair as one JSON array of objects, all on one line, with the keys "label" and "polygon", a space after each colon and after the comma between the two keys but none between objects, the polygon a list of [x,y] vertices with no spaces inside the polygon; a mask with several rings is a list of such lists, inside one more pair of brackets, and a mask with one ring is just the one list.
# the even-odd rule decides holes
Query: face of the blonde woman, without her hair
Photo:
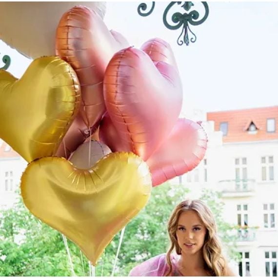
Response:
[{"label": "face of the blonde woman, without her hair", "polygon": [[206,227],[194,210],[182,212],[179,216],[176,236],[181,254],[196,254],[202,250]]}]

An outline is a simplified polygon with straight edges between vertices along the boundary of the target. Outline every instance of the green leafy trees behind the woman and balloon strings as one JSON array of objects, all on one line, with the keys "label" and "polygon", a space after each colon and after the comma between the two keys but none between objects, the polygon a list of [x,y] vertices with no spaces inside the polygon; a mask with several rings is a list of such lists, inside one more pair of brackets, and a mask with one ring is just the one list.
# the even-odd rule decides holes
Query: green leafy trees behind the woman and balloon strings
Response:
[{"label": "green leafy trees behind the woman and balloon strings", "polygon": [[[127,276],[141,261],[165,253],[169,246],[168,218],[188,189],[168,183],[153,188],[146,207],[125,229],[115,276]],[[221,218],[222,205],[213,192],[204,192],[218,220],[224,242],[231,242],[226,231],[229,225]],[[20,200],[14,208],[0,212],[0,276],[71,276],[61,234],[32,216]],[[21,235],[21,240],[19,236]],[[111,276],[119,236],[105,249],[95,269],[96,276]],[[77,276],[88,276],[88,259],[79,248],[67,240]]]}]

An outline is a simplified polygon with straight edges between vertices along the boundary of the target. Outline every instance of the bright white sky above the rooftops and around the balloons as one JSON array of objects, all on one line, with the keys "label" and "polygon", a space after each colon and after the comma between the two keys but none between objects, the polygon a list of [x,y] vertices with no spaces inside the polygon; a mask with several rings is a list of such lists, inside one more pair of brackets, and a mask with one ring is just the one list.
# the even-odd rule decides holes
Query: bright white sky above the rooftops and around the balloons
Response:
[{"label": "bright white sky above the rooftops and around the balloons", "polygon": [[[197,41],[189,46],[177,44],[180,29],[164,26],[167,2],[156,2],[148,17],[137,13],[139,3],[107,2],[104,21],[137,48],[155,37],[171,45],[183,84],[182,114],[278,105],[278,2],[208,2],[209,16],[191,27]],[[202,5],[195,8],[202,16]],[[0,67],[5,54],[20,78],[30,60],[0,41]]]}]

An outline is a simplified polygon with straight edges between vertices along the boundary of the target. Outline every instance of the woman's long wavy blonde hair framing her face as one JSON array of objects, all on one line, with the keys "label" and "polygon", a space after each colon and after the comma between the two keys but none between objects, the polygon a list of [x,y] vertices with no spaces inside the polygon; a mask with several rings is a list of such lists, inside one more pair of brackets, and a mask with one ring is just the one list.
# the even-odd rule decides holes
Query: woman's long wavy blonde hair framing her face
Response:
[{"label": "woman's long wavy blonde hair framing her face", "polygon": [[181,254],[178,239],[176,236],[179,216],[182,212],[193,210],[196,211],[206,227],[206,236],[203,249],[203,258],[205,261],[205,268],[212,276],[223,276],[225,273],[226,260],[222,256],[220,241],[217,237],[217,226],[211,210],[201,200],[185,200],[177,205],[174,209],[169,222],[168,234],[171,240],[170,248],[167,252],[167,264],[169,270],[165,276],[171,276],[173,266],[171,262],[171,253],[175,248],[178,255]]}]

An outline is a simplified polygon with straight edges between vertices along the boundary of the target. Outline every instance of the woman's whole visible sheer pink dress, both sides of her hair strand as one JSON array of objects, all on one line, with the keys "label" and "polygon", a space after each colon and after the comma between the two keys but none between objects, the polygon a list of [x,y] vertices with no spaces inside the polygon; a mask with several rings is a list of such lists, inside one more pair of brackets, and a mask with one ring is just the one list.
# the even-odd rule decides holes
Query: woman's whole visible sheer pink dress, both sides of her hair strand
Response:
[{"label": "woman's whole visible sheer pink dress, both sides of her hair strand", "polygon": [[[178,257],[177,255],[171,255],[172,262],[172,275],[171,276],[182,276],[177,267]],[[167,264],[166,254],[158,255],[154,258],[150,258],[141,264],[134,267],[129,276],[164,276],[168,271],[169,266]]]}]

